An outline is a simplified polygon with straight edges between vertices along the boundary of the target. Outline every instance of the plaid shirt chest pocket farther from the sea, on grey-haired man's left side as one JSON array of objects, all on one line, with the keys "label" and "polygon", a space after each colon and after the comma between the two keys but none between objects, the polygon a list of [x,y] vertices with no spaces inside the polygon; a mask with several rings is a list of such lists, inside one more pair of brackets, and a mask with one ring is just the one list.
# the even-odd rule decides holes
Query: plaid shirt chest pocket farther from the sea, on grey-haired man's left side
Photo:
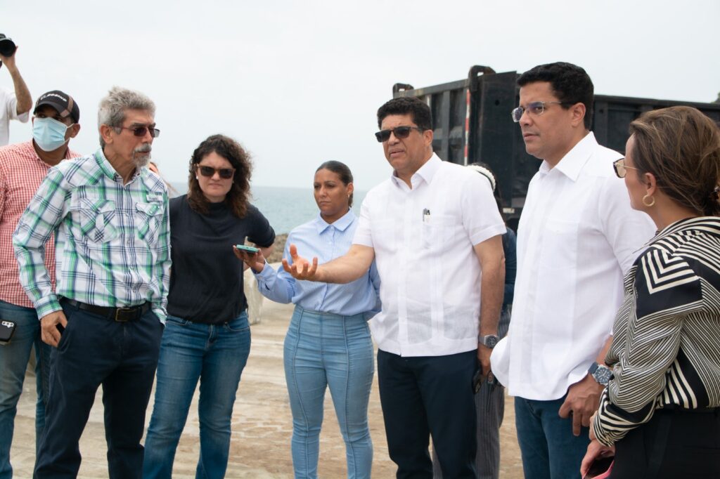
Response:
[{"label": "plaid shirt chest pocket farther from the sea, on grey-haired man's left side", "polygon": [[91,243],[107,243],[120,236],[120,219],[115,202],[81,198],[71,206],[77,227],[73,236]]}]

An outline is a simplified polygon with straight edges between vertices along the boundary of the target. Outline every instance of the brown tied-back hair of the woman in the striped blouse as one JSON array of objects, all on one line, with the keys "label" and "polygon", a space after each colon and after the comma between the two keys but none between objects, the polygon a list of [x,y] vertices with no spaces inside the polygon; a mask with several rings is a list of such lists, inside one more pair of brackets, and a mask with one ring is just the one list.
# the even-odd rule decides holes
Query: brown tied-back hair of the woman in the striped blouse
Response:
[{"label": "brown tied-back hair of the woman in the striped blouse", "polygon": [[652,173],[657,186],[700,216],[718,216],[720,129],[691,106],[647,111],[630,124],[638,174]]}]

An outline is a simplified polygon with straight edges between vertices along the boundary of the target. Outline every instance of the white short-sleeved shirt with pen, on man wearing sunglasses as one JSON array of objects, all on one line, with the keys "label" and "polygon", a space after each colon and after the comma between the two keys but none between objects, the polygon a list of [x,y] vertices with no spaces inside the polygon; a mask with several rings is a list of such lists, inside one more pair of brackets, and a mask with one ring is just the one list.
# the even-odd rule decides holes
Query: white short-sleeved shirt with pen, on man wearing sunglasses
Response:
[{"label": "white short-sleeved shirt with pen, on man wearing sunglasses", "polygon": [[354,244],[374,248],[382,311],[370,322],[378,347],[402,356],[477,349],[477,245],[505,232],[490,183],[433,155],[410,178],[367,193]]}]

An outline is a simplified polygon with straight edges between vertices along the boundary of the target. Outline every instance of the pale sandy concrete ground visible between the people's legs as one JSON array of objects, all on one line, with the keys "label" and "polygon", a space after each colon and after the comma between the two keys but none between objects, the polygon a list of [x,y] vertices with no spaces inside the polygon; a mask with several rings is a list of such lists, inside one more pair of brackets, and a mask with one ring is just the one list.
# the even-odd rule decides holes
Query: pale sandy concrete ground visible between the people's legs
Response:
[{"label": "pale sandy concrete ground visible between the people's legs", "polygon": [[[282,365],[282,342],[291,314],[292,305],[265,301],[262,321],[252,327],[250,359],[240,381],[233,412],[233,439],[226,476],[228,478],[292,478],[292,419]],[[152,405],[153,398],[150,399],[148,415],[145,418],[146,425],[150,421]],[[501,478],[523,477],[513,411],[512,398],[506,398],[505,420],[500,429]],[[35,462],[34,417],[35,378],[28,376],[18,405],[11,452],[15,478],[32,477],[32,466]],[[377,378],[370,396],[369,423],[374,444],[373,476],[395,477],[395,465],[387,456]],[[320,478],[346,477],[345,447],[329,393],[325,398],[325,421],[320,441]],[[96,397],[80,442],[80,450],[83,462],[78,477],[107,478],[102,391]],[[176,454],[175,478],[194,478],[198,452],[196,394]]]}]

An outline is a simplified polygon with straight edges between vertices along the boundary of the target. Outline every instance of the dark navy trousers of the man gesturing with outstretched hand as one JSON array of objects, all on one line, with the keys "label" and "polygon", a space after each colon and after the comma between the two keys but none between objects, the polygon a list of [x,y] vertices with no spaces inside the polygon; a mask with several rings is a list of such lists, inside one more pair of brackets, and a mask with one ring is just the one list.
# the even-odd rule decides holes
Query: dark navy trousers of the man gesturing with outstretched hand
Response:
[{"label": "dark navy trousers of the man gesturing with outstretched hand", "polygon": [[390,459],[397,478],[431,479],[429,438],[445,479],[475,478],[477,350],[402,357],[377,352],[377,378]]}]

